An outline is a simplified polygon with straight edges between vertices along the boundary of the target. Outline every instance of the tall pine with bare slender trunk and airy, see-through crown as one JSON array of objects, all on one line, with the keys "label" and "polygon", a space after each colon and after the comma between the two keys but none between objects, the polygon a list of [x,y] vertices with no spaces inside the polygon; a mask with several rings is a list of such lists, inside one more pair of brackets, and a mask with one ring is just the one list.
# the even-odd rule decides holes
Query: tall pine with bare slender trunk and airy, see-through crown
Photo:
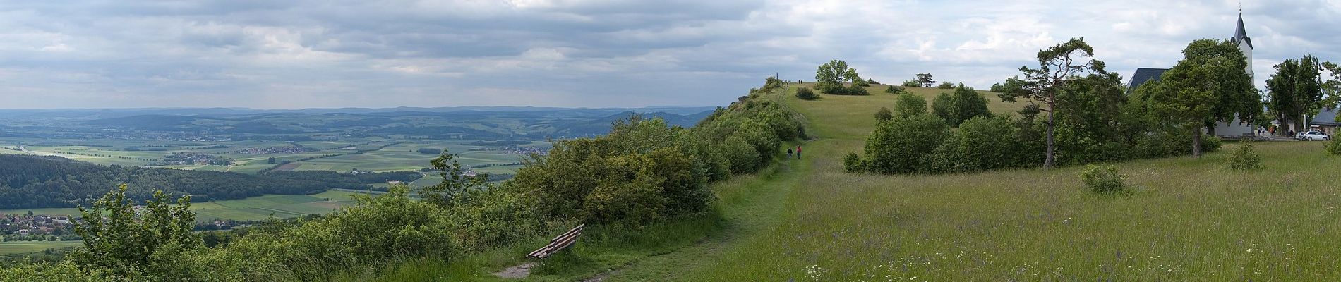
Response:
[{"label": "tall pine with bare slender trunk and airy, see-through crown", "polygon": [[1066,87],[1067,82],[1080,79],[1082,74],[1108,74],[1104,71],[1104,61],[1094,60],[1094,48],[1085,43],[1084,37],[1071,39],[1047,49],[1038,51],[1038,68],[1019,67],[1025,72],[1023,83],[1016,88],[1007,90],[999,96],[1003,102],[1027,99],[1029,103],[1042,103],[1047,112],[1047,152],[1043,158],[1043,168],[1051,168],[1057,162],[1057,140],[1054,138],[1054,114],[1057,114],[1057,92]]}]

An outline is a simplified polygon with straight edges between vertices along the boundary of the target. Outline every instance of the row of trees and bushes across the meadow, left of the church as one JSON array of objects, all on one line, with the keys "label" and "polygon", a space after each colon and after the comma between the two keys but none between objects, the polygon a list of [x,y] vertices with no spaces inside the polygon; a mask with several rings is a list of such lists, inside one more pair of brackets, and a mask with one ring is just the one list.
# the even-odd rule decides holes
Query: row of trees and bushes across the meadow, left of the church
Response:
[{"label": "row of trees and bushes across the meadow, left of the church", "polygon": [[1261,98],[1232,43],[1198,40],[1184,55],[1160,82],[1128,95],[1121,76],[1093,59],[1093,47],[1071,39],[1039,51],[1038,67],[1021,67],[1023,78],[994,86],[1003,102],[1026,103],[1019,118],[984,111],[986,100],[974,99],[971,88],[939,96],[933,114],[924,114],[919,106],[925,100],[909,95],[896,102],[900,114],[868,136],[865,154],[848,154],[843,166],[856,172],[944,174],[1218,150],[1215,122],[1254,122]]}]

